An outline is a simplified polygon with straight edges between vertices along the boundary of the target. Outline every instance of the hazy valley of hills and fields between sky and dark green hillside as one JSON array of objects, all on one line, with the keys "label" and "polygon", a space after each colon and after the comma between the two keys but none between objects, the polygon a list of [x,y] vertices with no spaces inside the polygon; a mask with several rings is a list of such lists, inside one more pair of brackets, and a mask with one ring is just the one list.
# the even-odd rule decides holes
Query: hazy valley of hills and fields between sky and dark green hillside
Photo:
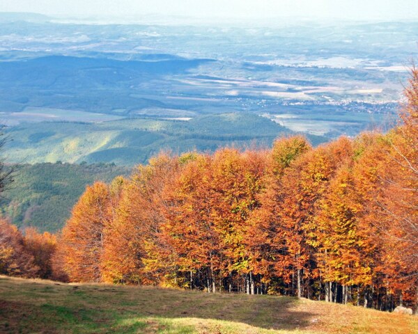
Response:
[{"label": "hazy valley of hills and fields between sky and dark green hillside", "polygon": [[167,149],[389,129],[416,54],[416,22],[248,29],[18,17],[0,15],[10,162],[134,165]]}]

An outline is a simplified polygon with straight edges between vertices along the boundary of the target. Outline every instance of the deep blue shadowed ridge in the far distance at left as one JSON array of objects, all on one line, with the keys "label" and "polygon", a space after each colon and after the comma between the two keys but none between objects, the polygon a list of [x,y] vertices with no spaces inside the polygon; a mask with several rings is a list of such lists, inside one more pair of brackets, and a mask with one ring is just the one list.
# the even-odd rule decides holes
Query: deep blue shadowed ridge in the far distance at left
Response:
[{"label": "deep blue shadowed ridge in the far distance at left", "polygon": [[[144,84],[157,78],[186,73],[208,59],[171,56],[153,61],[44,56],[0,62],[0,109],[22,111],[27,106],[124,113],[148,106],[167,106],[143,94]],[[10,86],[10,82],[13,86]]]}]

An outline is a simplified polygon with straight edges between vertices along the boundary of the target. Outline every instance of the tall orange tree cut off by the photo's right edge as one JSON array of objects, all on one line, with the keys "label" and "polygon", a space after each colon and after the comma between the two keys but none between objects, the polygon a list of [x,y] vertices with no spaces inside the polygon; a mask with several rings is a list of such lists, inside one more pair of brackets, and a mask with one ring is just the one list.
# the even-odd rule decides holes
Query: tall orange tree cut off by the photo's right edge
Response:
[{"label": "tall orange tree cut off by the photo's right edge", "polygon": [[386,165],[392,166],[392,170],[382,170],[380,178],[385,181],[382,209],[387,220],[394,222],[389,234],[392,242],[397,241],[396,255],[404,273],[402,281],[412,290],[418,312],[418,69],[415,66],[404,94],[407,103],[401,109],[402,124],[394,129],[391,162]]}]

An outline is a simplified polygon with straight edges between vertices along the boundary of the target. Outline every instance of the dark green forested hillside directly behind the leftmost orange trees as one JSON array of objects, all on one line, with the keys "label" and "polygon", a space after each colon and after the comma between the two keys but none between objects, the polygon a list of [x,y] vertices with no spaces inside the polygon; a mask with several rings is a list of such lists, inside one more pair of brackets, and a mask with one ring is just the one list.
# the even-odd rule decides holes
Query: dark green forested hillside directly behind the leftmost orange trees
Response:
[{"label": "dark green forested hillside directly behind the leftmost orange trees", "polygon": [[109,182],[130,168],[114,164],[25,164],[18,166],[13,184],[1,194],[0,209],[17,227],[61,230],[86,185]]}]

